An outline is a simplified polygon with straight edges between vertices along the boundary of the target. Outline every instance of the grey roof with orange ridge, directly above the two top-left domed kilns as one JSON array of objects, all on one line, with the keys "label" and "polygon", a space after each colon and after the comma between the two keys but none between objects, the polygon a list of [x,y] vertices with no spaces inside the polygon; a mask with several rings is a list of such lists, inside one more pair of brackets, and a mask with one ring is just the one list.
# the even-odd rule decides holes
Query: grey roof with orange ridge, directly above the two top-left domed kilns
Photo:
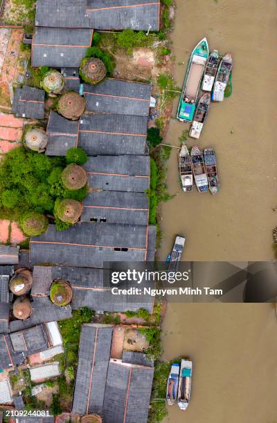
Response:
[{"label": "grey roof with orange ridge, directly above the two top-left domed kilns", "polygon": [[79,67],[91,46],[93,30],[37,27],[32,42],[32,66]]}]

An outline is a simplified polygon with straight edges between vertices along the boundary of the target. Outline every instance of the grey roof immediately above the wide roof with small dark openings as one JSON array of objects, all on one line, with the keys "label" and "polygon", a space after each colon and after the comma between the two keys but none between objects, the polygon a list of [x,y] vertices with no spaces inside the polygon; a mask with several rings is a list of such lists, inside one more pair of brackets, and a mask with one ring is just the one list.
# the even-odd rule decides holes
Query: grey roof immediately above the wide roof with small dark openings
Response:
[{"label": "grey roof immediately above the wide roof with small dark openings", "polygon": [[81,220],[148,225],[149,199],[142,192],[92,191],[83,201]]}]

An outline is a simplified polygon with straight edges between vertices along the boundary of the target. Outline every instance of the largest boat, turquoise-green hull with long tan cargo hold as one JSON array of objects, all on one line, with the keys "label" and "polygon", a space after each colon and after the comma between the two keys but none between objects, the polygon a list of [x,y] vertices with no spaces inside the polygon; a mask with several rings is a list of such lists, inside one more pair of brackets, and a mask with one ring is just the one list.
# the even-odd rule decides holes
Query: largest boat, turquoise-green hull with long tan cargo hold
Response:
[{"label": "largest boat, turquoise-green hull with long tan cargo hold", "polygon": [[195,114],[195,104],[208,59],[208,41],[203,38],[190,55],[186,77],[179,100],[177,119],[191,122]]}]

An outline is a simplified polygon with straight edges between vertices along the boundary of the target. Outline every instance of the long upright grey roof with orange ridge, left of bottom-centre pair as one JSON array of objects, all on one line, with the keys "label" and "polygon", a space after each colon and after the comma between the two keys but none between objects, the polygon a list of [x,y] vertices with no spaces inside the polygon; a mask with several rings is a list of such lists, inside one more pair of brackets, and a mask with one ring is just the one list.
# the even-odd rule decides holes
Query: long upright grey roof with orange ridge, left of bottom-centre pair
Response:
[{"label": "long upright grey roof with orange ridge, left of bottom-centre pair", "polygon": [[102,415],[112,332],[111,325],[82,326],[73,413]]}]

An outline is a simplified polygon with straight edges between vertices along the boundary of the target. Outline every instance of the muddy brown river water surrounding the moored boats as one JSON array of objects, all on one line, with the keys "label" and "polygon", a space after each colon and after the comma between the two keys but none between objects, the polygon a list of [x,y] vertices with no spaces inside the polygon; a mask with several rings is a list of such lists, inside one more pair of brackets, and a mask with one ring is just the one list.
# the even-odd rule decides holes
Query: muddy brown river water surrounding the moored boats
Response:
[{"label": "muddy brown river water surrounding the moored boats", "polygon": [[[206,36],[210,50],[233,53],[233,95],[212,104],[198,142],[202,149],[215,148],[219,196],[183,193],[178,150],[172,149],[168,191],[176,196],[162,208],[162,260],[177,234],[186,236],[186,261],[274,259],[276,12],[276,0],[177,0],[172,50],[178,86],[190,51]],[[184,129],[172,120],[166,142],[179,147]],[[187,144],[197,142],[188,138]],[[163,359],[186,355],[194,364],[190,406],[184,413],[170,407],[165,422],[277,422],[277,318],[271,304],[169,304],[163,348]]]}]

